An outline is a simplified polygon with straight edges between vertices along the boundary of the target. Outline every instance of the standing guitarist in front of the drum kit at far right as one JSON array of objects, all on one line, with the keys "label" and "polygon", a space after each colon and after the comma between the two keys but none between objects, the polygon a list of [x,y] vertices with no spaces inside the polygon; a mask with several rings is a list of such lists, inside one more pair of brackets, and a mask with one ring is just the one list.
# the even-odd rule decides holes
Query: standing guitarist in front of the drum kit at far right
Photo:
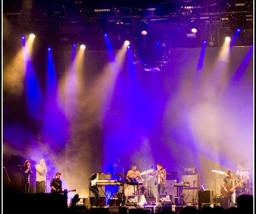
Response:
[{"label": "standing guitarist in front of the drum kit at far right", "polygon": [[233,175],[233,172],[229,170],[221,184],[224,191],[223,194],[226,196],[228,208],[233,207],[233,205],[236,203],[235,188],[239,185],[240,184],[238,184],[237,178]]}]

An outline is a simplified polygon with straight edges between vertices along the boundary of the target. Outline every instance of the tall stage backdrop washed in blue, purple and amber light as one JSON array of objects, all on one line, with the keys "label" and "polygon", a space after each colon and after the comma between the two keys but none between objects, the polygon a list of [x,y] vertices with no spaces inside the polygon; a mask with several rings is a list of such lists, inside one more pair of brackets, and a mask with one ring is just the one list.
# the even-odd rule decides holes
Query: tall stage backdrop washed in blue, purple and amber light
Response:
[{"label": "tall stage backdrop washed in blue, purple and amber light", "polygon": [[158,72],[144,71],[127,56],[121,62],[118,52],[109,64],[105,51],[85,51],[74,69],[71,52],[65,52],[64,62],[54,59],[52,100],[47,78],[36,74],[43,97],[37,117],[27,113],[24,91],[5,90],[3,166],[11,182],[3,171],[4,186],[19,188],[17,166],[25,159],[34,167],[45,158],[48,177],[61,171],[64,188],[77,189],[81,197],[89,195],[93,172],[119,179],[115,175],[126,174],[132,163],[141,172],[162,163],[166,171],[178,172],[179,180],[183,167],[196,167],[201,184],[215,192],[222,177],[212,170],[236,170],[238,162],[251,169],[251,47],[232,48],[228,58],[207,48],[201,65],[200,51],[173,49]]}]

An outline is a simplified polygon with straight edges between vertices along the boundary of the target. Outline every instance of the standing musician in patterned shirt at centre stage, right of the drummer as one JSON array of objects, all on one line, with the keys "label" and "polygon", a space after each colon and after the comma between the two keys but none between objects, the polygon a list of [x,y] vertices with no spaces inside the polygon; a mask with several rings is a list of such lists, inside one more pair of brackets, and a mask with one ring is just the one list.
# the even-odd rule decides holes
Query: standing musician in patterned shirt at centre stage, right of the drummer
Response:
[{"label": "standing musician in patterned shirt at centre stage, right of the drummer", "polygon": [[163,169],[163,165],[158,163],[157,170],[155,172],[150,173],[150,177],[156,175],[155,177],[155,185],[157,185],[158,194],[163,194],[166,184],[166,170]]}]

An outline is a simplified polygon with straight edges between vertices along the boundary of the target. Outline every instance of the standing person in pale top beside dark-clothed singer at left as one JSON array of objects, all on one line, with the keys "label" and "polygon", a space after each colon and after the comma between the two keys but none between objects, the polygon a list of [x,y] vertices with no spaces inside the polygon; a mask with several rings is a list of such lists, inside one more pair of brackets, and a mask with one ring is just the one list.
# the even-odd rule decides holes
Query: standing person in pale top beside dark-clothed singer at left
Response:
[{"label": "standing person in pale top beside dark-clothed singer at left", "polygon": [[46,173],[47,167],[45,164],[45,159],[40,160],[40,164],[35,166],[36,169],[36,193],[46,192]]}]

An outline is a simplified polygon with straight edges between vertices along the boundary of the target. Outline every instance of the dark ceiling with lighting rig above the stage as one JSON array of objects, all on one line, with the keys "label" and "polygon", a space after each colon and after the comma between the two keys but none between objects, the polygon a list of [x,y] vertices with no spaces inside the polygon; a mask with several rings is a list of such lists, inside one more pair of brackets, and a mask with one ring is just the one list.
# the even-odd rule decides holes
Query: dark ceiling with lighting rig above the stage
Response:
[{"label": "dark ceiling with lighting rig above the stage", "polygon": [[[207,39],[220,45],[223,33],[233,34],[240,27],[237,45],[253,42],[253,1],[247,0],[9,0],[3,1],[3,16],[5,48],[10,48],[13,33],[30,32],[43,36],[47,45],[85,42],[91,49],[105,47],[102,35],[108,33],[114,48],[129,39],[138,49],[156,41],[200,47]],[[190,40],[186,33],[193,26],[199,33]],[[140,34],[143,27],[148,29],[147,39]]]}]

